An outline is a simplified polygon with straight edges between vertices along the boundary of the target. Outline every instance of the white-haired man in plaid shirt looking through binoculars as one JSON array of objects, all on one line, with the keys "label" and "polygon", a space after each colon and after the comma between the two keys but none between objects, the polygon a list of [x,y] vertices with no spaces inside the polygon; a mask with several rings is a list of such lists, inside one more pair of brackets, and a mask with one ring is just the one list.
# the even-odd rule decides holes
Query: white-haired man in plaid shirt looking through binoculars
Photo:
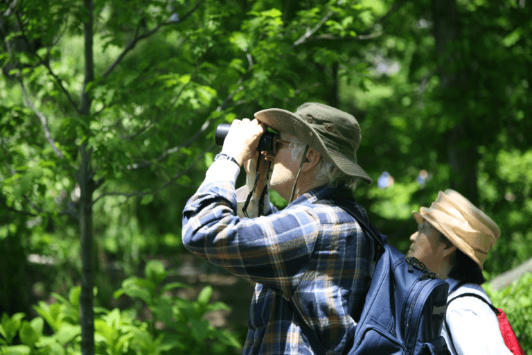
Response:
[{"label": "white-haired man in plaid shirt looking through binoculars", "polygon": [[[352,197],[359,180],[372,182],[357,163],[360,126],[320,103],[294,113],[263,110],[255,118],[233,121],[188,200],[184,245],[257,283],[243,354],[342,354],[371,281],[375,246],[344,209],[314,202],[342,196],[367,220]],[[274,148],[259,155],[267,128],[277,133]],[[237,196],[242,165],[249,183]],[[267,186],[289,201],[285,209],[269,203]],[[240,193],[242,200],[249,196],[245,213],[254,218],[242,215]]]}]

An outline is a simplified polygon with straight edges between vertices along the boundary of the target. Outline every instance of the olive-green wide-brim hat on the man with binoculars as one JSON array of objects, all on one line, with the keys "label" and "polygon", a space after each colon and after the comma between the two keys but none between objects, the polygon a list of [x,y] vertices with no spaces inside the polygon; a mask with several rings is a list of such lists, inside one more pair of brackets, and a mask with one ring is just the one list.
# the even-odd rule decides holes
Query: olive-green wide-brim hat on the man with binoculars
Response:
[{"label": "olive-green wide-brim hat on the man with binoculars", "polygon": [[351,114],[322,103],[303,103],[295,113],[270,108],[256,112],[255,118],[274,130],[301,139],[347,175],[366,184],[373,182],[357,164],[362,135]]}]

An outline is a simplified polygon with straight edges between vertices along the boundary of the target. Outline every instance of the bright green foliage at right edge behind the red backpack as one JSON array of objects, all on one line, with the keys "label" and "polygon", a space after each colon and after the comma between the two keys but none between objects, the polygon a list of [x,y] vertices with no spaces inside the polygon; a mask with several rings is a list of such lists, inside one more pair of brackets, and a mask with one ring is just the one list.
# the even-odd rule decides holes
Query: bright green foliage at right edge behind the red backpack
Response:
[{"label": "bright green foliage at right edge behind the red backpack", "polygon": [[491,302],[506,313],[517,339],[525,354],[532,352],[532,273],[523,275],[508,287],[493,291],[489,284],[484,284]]}]

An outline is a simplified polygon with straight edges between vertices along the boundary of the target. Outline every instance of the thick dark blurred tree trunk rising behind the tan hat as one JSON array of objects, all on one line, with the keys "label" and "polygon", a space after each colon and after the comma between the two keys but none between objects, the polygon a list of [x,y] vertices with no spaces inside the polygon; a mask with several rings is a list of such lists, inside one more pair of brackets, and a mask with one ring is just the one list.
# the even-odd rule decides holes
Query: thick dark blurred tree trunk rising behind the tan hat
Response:
[{"label": "thick dark blurred tree trunk rising behind the tan hat", "polygon": [[467,85],[467,75],[456,65],[463,60],[463,53],[456,44],[461,37],[460,18],[456,0],[433,0],[434,40],[445,102],[444,115],[452,117],[456,125],[449,132],[447,157],[451,166],[450,187],[462,193],[473,204],[478,203],[477,164],[479,154],[475,142],[470,140],[472,129],[464,107],[467,99],[461,94]]}]

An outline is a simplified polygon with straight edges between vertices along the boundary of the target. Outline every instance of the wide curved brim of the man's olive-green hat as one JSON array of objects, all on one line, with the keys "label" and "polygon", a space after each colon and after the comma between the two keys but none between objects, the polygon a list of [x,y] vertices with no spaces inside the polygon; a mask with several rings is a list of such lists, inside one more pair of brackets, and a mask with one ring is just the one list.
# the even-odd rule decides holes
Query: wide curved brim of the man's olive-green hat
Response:
[{"label": "wide curved brim of the man's olive-green hat", "polygon": [[326,145],[318,132],[296,114],[279,108],[269,108],[256,112],[255,118],[269,128],[301,139],[347,175],[360,178],[366,184],[373,183],[373,180],[360,165],[347,159],[344,155],[326,149]]}]

